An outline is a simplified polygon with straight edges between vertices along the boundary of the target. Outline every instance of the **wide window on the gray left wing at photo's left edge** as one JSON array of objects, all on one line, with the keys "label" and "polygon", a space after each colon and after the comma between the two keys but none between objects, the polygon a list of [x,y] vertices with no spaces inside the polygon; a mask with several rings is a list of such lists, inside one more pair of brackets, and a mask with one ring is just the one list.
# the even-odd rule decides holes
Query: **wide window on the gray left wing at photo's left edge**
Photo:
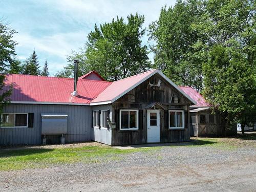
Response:
[{"label": "wide window on the gray left wing at photo's left edge", "polygon": [[1,115],[1,127],[28,127],[28,114],[3,113]]}]

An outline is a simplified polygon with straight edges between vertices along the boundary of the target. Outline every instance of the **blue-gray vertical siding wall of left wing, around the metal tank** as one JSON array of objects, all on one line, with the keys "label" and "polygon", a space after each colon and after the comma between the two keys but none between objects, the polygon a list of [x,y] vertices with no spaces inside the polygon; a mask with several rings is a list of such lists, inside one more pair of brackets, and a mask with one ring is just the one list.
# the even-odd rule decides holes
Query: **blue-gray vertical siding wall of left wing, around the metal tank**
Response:
[{"label": "blue-gray vertical siding wall of left wing, around the metal tank", "polygon": [[[34,113],[33,128],[0,128],[0,144],[41,144],[41,113],[68,115],[66,142],[91,140],[91,106],[9,104],[3,113]],[[47,136],[56,140],[57,136]]]}]

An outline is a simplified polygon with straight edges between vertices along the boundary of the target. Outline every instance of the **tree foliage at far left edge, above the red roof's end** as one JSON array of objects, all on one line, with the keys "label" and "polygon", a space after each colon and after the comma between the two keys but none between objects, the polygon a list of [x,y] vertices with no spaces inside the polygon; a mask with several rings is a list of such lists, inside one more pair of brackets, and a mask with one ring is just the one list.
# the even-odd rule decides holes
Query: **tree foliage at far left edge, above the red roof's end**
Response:
[{"label": "tree foliage at far left edge, above the red roof's end", "polygon": [[6,72],[9,63],[12,62],[12,57],[15,56],[15,46],[17,42],[12,39],[15,30],[8,28],[0,20],[0,73]]}]

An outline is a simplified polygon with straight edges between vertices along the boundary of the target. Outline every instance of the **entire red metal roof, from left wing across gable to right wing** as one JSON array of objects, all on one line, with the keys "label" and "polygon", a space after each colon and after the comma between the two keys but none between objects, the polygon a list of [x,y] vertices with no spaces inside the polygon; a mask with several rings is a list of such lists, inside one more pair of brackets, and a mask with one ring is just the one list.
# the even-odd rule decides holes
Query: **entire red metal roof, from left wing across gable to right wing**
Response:
[{"label": "entire red metal roof, from left wing across gable to right wing", "polygon": [[[156,69],[114,82],[79,78],[77,82],[78,97],[71,95],[74,89],[73,78],[7,74],[6,84],[13,83],[13,93],[10,98],[12,102],[97,104],[107,101],[111,103],[156,73],[170,81]],[[170,83],[192,102],[196,100],[198,106],[209,106],[194,89],[177,87],[172,81]]]}]

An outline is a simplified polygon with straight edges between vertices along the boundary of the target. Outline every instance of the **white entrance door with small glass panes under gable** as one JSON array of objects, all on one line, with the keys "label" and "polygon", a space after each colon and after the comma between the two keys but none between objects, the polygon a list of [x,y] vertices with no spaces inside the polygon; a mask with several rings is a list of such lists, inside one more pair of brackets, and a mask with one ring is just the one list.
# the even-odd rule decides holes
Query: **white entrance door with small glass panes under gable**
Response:
[{"label": "white entrance door with small glass panes under gable", "polygon": [[159,110],[147,110],[147,142],[160,142]]}]

